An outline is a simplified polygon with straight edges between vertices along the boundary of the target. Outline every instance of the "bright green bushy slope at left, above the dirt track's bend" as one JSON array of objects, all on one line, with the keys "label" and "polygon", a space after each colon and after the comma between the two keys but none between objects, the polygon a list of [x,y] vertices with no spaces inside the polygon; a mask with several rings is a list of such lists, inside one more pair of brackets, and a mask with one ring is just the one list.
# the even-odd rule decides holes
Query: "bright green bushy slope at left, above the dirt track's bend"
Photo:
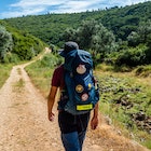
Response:
[{"label": "bright green bushy slope at left, above the dirt track's bend", "polygon": [[[1,49],[2,54],[4,54],[3,63],[29,60],[33,56],[37,56],[40,52],[42,52],[44,46],[46,45],[44,44],[44,42],[26,31],[20,31],[12,28],[5,22],[0,20],[0,24],[5,27],[3,29],[5,29],[5,33],[8,33],[9,36],[8,38],[10,38],[10,40],[6,40],[8,45],[9,43],[11,43],[10,49]],[[4,41],[1,41],[1,43],[4,44]]]}]

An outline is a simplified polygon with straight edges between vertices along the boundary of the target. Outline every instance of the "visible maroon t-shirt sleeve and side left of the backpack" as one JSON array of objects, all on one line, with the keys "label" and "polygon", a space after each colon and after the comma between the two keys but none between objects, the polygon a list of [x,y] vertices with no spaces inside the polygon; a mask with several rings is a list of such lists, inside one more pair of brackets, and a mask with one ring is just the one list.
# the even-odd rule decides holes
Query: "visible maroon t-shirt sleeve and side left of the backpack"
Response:
[{"label": "visible maroon t-shirt sleeve and side left of the backpack", "polygon": [[52,78],[52,86],[60,87],[60,90],[65,87],[64,65],[60,65],[54,70]]}]

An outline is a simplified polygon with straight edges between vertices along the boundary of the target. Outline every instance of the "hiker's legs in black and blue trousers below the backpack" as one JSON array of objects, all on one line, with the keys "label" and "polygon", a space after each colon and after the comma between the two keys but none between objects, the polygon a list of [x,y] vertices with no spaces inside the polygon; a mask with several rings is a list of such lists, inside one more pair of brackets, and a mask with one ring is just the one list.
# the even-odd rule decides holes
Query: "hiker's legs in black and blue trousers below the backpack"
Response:
[{"label": "hiker's legs in black and blue trousers below the backpack", "polygon": [[81,115],[72,115],[66,111],[59,112],[58,123],[66,151],[82,151],[88,121],[90,112]]}]

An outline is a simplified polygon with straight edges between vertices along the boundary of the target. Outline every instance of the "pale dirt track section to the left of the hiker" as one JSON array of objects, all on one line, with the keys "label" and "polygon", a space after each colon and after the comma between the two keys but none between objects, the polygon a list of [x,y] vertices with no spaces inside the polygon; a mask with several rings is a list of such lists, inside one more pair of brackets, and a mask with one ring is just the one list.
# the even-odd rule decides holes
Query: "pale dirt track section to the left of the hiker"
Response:
[{"label": "pale dirt track section to the left of the hiker", "polygon": [[60,151],[56,121],[47,121],[46,100],[24,67],[15,66],[0,90],[0,151]]}]

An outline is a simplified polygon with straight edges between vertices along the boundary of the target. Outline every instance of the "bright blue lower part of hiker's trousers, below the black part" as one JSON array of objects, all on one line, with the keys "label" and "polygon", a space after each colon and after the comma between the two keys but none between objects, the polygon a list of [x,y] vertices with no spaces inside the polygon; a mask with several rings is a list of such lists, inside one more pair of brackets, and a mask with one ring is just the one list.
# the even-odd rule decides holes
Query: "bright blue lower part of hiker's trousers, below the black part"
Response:
[{"label": "bright blue lower part of hiker's trousers, below the black part", "polygon": [[[82,141],[82,135],[80,135]],[[79,135],[77,132],[61,134],[61,141],[66,151],[82,151],[82,147],[79,141]]]}]

